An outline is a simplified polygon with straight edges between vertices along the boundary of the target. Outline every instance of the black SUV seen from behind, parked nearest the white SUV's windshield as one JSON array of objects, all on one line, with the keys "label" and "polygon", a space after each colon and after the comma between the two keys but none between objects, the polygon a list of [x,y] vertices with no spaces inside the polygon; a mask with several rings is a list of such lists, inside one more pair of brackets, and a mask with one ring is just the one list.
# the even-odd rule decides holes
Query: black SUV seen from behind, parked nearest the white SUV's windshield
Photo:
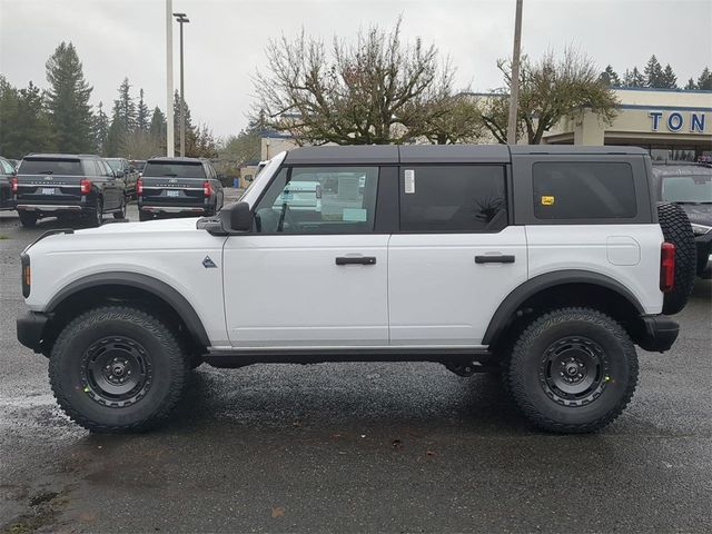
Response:
[{"label": "black SUV seen from behind, parked nearest the white SUV's windshield", "polygon": [[140,220],[214,215],[222,207],[222,185],[207,159],[154,158],[136,188]]}]

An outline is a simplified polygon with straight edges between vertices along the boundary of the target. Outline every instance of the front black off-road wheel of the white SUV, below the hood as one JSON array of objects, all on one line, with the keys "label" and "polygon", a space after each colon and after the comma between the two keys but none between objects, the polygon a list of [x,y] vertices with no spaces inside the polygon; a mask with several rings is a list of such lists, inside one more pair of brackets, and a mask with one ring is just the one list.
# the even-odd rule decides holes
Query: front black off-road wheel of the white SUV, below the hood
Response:
[{"label": "front black off-road wheel of the white SUV, below the hood", "polygon": [[[131,392],[107,394],[102,387],[108,383],[93,378],[99,358],[110,363],[115,354],[123,354],[121,347],[138,355],[147,377],[140,390],[138,385],[131,390],[136,396],[131,399],[127,399]],[[106,362],[100,364],[101,373]],[[131,306],[102,306],[80,315],[60,333],[49,360],[50,384],[60,407],[95,433],[141,432],[158,425],[179,400],[187,373],[188,357],[171,328]]]}]

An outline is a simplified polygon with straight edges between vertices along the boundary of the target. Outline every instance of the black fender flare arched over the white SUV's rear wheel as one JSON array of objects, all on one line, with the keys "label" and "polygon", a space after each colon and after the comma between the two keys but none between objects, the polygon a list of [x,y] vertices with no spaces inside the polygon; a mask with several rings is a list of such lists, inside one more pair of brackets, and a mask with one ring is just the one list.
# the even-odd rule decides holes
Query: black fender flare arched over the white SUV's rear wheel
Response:
[{"label": "black fender flare arched over the white SUV's rear wheel", "polygon": [[528,298],[533,297],[537,293],[551,288],[561,286],[564,284],[589,284],[593,286],[604,287],[617,293],[621,297],[625,298],[640,315],[644,315],[644,308],[640,300],[620,281],[611,278],[610,276],[602,275],[600,273],[592,273],[587,270],[566,269],[555,270],[553,273],[545,273],[543,275],[530,278],[525,283],[513,289],[510,295],[500,304],[500,307],[492,316],[490,325],[482,339],[483,345],[490,345],[495,342],[500,334],[510,323],[510,319],[514,316],[516,310]]}]

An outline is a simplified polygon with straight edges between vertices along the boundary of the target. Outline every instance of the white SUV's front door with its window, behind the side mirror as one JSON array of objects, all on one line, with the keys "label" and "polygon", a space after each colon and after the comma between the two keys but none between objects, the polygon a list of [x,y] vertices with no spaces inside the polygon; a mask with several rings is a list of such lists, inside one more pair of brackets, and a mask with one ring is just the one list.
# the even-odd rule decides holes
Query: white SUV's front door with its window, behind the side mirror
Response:
[{"label": "white SUV's front door with its window, behind the side mirror", "polygon": [[284,168],[255,228],[224,249],[235,347],[388,344],[388,235],[374,234],[377,167]]}]

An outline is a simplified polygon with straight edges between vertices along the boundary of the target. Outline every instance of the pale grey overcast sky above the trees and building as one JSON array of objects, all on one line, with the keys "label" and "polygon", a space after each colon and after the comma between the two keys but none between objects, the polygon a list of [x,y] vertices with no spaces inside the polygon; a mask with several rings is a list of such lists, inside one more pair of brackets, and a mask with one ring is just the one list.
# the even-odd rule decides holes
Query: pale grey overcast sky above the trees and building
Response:
[{"label": "pale grey overcast sky above the trees and building", "polygon": [[[435,43],[457,67],[457,82],[501,86],[497,58],[512,53],[514,0],[174,0],[186,30],[186,100],[194,121],[217,136],[236,134],[253,101],[251,76],[265,46],[281,33],[353,39],[369,24],[403,16],[404,38]],[[148,105],[166,108],[165,0],[0,0],[0,71],[16,86],[46,87],[44,62],[71,40],[93,86],[91,101],[110,112],[128,76]],[[641,70],[655,53],[684,85],[712,67],[712,0],[524,0],[522,46],[536,58],[574,43],[603,69]],[[178,82],[178,29],[174,30]]]}]

